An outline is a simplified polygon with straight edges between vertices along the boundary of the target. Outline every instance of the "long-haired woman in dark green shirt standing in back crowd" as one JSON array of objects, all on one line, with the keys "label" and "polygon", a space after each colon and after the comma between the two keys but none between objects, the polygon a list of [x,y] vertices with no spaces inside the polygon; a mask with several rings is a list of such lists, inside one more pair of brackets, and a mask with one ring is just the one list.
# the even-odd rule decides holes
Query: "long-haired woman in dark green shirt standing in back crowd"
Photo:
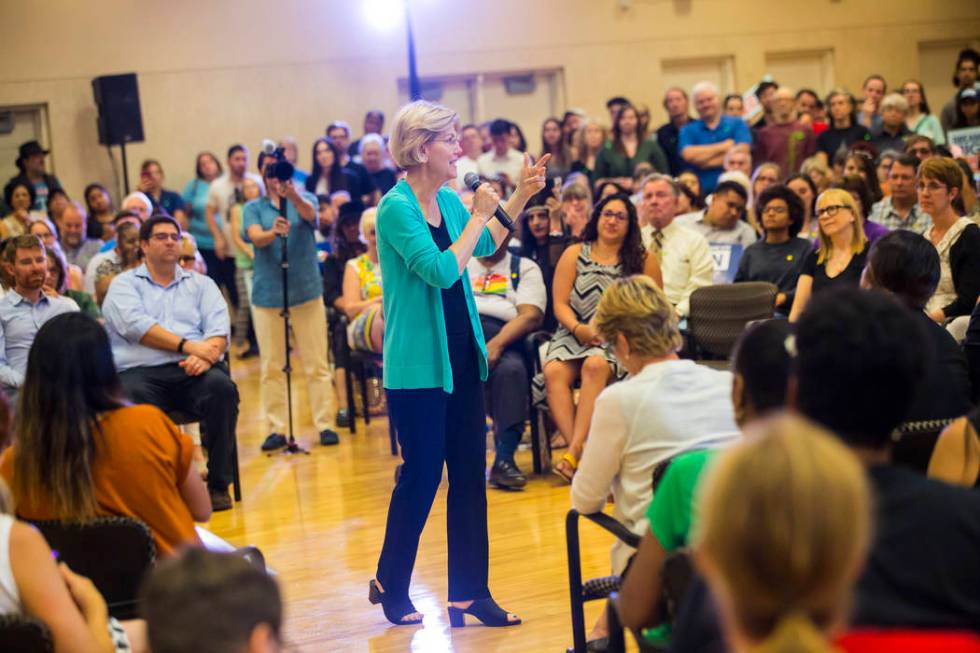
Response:
[{"label": "long-haired woman in dark green shirt standing in back crowd", "polygon": [[596,157],[595,183],[598,185],[608,179],[632,190],[633,172],[637,164],[644,161],[657,172],[670,174],[667,155],[657,141],[647,138],[636,108],[626,105],[616,115],[612,140],[602,146]]}]

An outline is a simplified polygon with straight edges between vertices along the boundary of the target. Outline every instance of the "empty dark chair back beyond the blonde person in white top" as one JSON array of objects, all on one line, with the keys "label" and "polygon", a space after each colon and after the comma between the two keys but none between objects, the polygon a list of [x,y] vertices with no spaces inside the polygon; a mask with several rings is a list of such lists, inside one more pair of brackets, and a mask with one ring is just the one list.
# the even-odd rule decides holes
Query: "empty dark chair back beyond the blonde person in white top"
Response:
[{"label": "empty dark chair back beyond the blonde person in white top", "polygon": [[690,353],[712,367],[727,367],[735,341],[745,326],[773,316],[777,291],[774,284],[764,281],[695,290],[687,319]]}]

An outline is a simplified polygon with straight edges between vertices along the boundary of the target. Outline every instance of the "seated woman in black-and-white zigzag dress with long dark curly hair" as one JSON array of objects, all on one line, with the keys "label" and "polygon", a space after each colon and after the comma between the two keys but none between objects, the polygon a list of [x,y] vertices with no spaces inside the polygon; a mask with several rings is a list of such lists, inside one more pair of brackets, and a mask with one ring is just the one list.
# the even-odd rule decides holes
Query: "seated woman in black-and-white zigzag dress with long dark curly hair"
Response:
[{"label": "seated woman in black-and-white zigzag dress with long dark curly hair", "polygon": [[[600,201],[582,233],[582,242],[562,254],[555,269],[553,302],[559,326],[544,365],[548,408],[568,451],[555,473],[571,480],[585,448],[595,399],[623,369],[589,323],[602,292],[616,279],[645,274],[663,287],[660,261],[640,239],[636,207],[629,197]],[[578,406],[572,396],[581,379]]]}]

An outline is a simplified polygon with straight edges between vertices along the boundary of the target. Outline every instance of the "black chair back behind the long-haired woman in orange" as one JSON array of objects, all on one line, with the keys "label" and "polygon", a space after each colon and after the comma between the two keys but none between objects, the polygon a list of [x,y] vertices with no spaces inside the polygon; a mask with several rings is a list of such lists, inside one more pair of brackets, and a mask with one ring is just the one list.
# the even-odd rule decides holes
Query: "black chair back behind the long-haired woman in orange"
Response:
[{"label": "black chair back behind the long-haired woman in orange", "polygon": [[139,616],[139,588],[156,561],[149,527],[128,517],[99,517],[83,523],[36,521],[58,560],[88,577],[116,619]]}]

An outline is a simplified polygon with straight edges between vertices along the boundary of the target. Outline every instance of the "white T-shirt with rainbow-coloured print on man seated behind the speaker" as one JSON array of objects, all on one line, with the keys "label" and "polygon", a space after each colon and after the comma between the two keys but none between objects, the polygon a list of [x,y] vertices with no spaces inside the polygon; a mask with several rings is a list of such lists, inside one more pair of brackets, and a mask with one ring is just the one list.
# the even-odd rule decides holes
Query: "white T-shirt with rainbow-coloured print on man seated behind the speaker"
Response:
[{"label": "white T-shirt with rainbow-coloured print on man seated behind the speaker", "polygon": [[544,287],[541,268],[531,259],[521,257],[521,278],[515,291],[510,274],[511,256],[507,252],[491,268],[477,258],[471,258],[466,264],[473,287],[473,301],[480,315],[510,322],[517,317],[517,307],[521,304],[537,306],[544,313],[548,305],[548,291]]}]

